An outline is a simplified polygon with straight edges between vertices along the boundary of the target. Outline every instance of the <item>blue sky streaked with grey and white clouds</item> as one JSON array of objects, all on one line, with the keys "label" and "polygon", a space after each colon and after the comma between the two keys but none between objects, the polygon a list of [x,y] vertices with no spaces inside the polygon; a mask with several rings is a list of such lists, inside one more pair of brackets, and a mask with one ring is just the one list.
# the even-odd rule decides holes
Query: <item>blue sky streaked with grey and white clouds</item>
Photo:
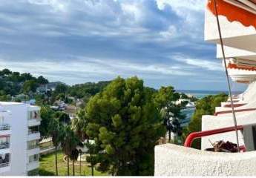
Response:
[{"label": "blue sky streaked with grey and white clouds", "polygon": [[153,88],[227,90],[216,47],[203,39],[204,8],[204,0],[0,0],[0,69],[69,85],[138,76]]}]

